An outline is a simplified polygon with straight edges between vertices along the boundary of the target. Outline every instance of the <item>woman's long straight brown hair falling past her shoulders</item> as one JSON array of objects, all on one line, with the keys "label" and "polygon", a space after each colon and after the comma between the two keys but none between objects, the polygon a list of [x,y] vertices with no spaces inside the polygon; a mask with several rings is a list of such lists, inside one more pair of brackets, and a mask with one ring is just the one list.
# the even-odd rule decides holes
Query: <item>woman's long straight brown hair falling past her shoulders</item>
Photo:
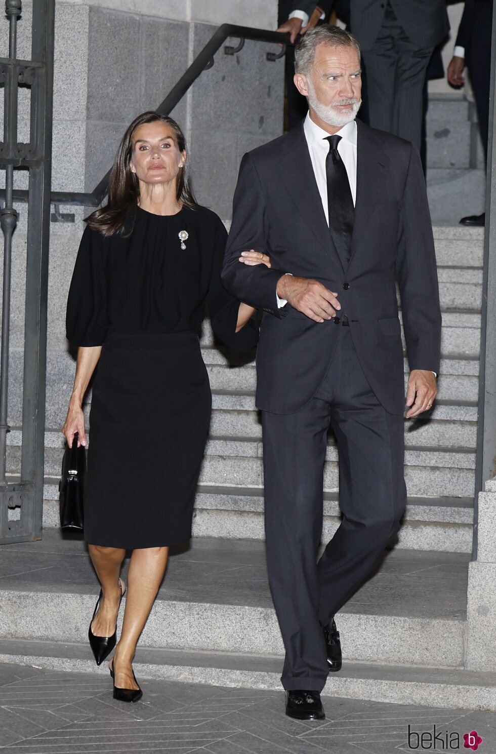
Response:
[{"label": "woman's long straight brown hair falling past her shoulders", "polygon": [[[134,222],[129,222],[130,210],[136,210],[139,200],[139,182],[135,173],[130,170],[130,161],[133,153],[133,133],[136,128],[144,123],[155,123],[161,121],[170,127],[176,138],[179,152],[186,149],[186,140],[184,133],[173,118],[168,115],[158,115],[158,112],[148,110],[142,112],[133,120],[122,137],[121,144],[115,158],[109,179],[108,201],[105,207],[95,210],[86,218],[87,224],[95,231],[99,231],[104,236],[111,236],[115,233],[129,235],[133,231]],[[197,210],[200,205],[194,198],[193,189],[191,189],[191,180],[188,176],[188,156],[184,167],[179,168],[176,177],[176,199],[183,207],[189,207],[191,210]],[[136,216],[136,213],[135,215]]]}]

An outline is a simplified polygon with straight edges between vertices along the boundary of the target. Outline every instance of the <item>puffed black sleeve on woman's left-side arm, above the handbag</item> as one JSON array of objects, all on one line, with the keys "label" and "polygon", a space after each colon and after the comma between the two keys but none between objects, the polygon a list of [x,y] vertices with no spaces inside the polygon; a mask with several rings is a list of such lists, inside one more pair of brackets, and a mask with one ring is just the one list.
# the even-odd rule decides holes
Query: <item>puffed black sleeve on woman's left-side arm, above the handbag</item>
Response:
[{"label": "puffed black sleeve on woman's left-side arm, above the handbag", "polygon": [[102,345],[106,336],[106,238],[86,227],[72,273],[66,336],[72,345]]}]

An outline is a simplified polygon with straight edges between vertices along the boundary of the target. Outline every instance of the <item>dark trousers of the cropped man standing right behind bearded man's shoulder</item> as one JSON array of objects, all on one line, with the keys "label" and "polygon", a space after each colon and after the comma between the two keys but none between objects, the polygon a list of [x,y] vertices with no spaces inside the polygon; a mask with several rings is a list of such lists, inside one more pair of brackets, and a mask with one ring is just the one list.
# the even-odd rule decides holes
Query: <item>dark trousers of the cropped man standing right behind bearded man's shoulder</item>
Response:
[{"label": "dark trousers of the cropped man standing right behind bearded man's shoulder", "polygon": [[419,49],[412,44],[390,5],[373,48],[362,51],[369,124],[411,141],[418,149],[424,81],[432,51],[433,48]]}]

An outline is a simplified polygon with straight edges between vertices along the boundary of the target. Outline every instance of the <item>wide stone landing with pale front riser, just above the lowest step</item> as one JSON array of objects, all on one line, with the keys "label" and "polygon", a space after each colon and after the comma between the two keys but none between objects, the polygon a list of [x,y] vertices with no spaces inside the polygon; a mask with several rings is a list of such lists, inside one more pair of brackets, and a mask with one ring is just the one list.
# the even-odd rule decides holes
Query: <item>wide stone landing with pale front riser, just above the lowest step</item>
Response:
[{"label": "wide stone landing with pale front riser, just above the lowest step", "polygon": [[[42,542],[8,545],[0,556],[0,639],[86,643],[98,586],[81,538],[47,531]],[[387,553],[336,618],[345,660],[462,667],[468,561],[462,553]],[[281,657],[265,545],[206,538],[177,548],[139,644]]]}]

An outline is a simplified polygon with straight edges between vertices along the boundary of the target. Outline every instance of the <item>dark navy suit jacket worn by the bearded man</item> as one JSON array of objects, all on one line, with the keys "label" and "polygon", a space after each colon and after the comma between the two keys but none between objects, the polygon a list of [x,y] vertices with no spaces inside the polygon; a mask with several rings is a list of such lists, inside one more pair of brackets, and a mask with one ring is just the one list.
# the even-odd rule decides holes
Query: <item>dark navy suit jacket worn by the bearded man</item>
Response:
[{"label": "dark navy suit jacket worn by the bearded man", "polygon": [[[271,269],[238,262],[240,252],[252,248],[271,256]],[[415,147],[357,121],[357,202],[346,270],[332,243],[302,124],[244,155],[222,278],[230,293],[264,310],[256,405],[281,414],[299,411],[317,393],[338,336],[333,320],[314,322],[290,305],[277,309],[277,281],[286,272],[338,292],[372,390],[388,412],[403,413],[395,274],[410,369],[439,372],[441,337],[433,233]]]}]

